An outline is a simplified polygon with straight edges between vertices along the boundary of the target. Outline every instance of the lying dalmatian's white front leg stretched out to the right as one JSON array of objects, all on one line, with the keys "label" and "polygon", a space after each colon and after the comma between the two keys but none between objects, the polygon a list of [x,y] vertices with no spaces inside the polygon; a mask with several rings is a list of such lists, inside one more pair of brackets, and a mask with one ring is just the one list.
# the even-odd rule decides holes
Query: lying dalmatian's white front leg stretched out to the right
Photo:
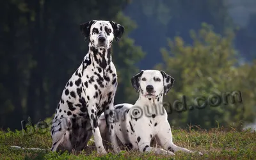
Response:
[{"label": "lying dalmatian's white front leg stretched out to the right", "polygon": [[[160,145],[164,148],[164,150],[169,150],[172,152],[182,151],[187,153],[195,153],[194,151],[188,150],[187,148],[179,147],[175,145],[172,141],[172,131],[168,120],[162,122],[161,127],[159,127],[160,131],[157,132],[157,138],[159,140]],[[201,152],[198,154],[202,155]]]}]

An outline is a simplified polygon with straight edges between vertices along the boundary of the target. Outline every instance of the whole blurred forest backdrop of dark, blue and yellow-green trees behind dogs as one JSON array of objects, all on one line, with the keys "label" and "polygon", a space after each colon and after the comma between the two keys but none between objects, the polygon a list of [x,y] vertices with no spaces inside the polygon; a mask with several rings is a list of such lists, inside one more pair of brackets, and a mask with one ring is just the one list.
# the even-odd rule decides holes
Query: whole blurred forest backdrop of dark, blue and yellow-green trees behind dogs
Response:
[{"label": "whole blurred forest backdrop of dark, blue and yellow-green trees behind dogs", "polygon": [[[243,102],[172,111],[179,127],[240,127],[256,116],[256,1],[247,0],[10,0],[0,6],[0,128],[21,129],[51,118],[63,87],[88,51],[79,24],[92,19],[125,26],[114,42],[115,104],[138,98],[131,77],[161,69],[175,79],[164,97],[241,92]],[[254,29],[253,29],[254,28]],[[224,100],[225,101],[225,100]]]}]

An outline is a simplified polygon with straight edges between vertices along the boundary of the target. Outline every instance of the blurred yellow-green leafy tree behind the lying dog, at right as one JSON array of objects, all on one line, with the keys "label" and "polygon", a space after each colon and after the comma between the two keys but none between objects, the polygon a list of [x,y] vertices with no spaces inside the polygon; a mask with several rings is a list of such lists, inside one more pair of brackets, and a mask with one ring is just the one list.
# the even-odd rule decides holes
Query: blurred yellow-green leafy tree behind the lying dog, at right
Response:
[{"label": "blurred yellow-green leafy tree behind the lying dog, at right", "polygon": [[[250,70],[250,75],[246,75],[251,77],[250,79],[255,70],[237,64],[237,52],[232,43],[234,33],[228,30],[225,36],[221,36],[213,31],[212,26],[203,24],[197,33],[191,31],[191,39],[193,45],[186,45],[180,36],[176,36],[173,41],[168,40],[170,51],[161,49],[164,63],[156,65],[157,69],[166,71],[175,79],[172,92],[164,99],[173,104],[175,100],[181,99],[182,95],[187,97],[188,110],[181,113],[173,110],[169,115],[170,122],[182,126],[200,125],[205,129],[216,127],[218,123],[225,127],[241,127],[241,120],[249,120],[249,117],[253,116],[244,113],[243,109],[252,110],[255,100],[243,100],[241,103],[236,97],[236,102],[232,104],[230,97],[226,97],[228,92],[234,91],[240,91],[243,97],[252,94],[248,87],[249,79],[243,79],[241,83],[240,78],[245,77],[241,70]],[[211,107],[208,101],[204,109],[195,107],[196,97],[209,98],[211,95],[220,95],[221,102],[218,106]],[[213,99],[213,103],[216,102],[214,100],[216,99]],[[201,104],[202,101],[197,106]],[[191,105],[194,109],[189,111]],[[244,116],[247,118],[244,119]]]}]

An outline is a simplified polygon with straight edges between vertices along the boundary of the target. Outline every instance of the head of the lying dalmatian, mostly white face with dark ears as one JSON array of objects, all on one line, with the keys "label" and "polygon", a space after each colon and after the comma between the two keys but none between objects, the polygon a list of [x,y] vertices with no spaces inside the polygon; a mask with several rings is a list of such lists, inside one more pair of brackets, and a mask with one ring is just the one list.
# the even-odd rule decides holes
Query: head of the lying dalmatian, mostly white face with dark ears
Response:
[{"label": "head of the lying dalmatian, mostly white face with dark ears", "polygon": [[161,93],[166,95],[172,88],[174,79],[162,70],[141,70],[131,78],[131,83],[136,92],[151,98],[159,97]]}]

